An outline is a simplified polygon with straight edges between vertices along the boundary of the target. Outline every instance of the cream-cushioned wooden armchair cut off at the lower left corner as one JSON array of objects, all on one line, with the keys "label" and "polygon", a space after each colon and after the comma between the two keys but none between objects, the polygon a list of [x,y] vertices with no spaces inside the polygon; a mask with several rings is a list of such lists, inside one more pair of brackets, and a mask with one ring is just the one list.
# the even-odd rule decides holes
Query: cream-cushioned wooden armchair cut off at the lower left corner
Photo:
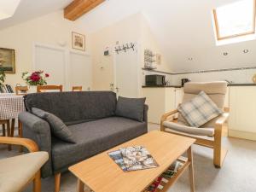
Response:
[{"label": "cream-cushioned wooden armchair cut off at the lower left corner", "polygon": [[40,192],[40,169],[48,160],[48,153],[38,152],[38,145],[26,138],[0,137],[0,143],[21,145],[31,152],[0,160],[0,191],[20,192],[33,181],[33,191]]}]

